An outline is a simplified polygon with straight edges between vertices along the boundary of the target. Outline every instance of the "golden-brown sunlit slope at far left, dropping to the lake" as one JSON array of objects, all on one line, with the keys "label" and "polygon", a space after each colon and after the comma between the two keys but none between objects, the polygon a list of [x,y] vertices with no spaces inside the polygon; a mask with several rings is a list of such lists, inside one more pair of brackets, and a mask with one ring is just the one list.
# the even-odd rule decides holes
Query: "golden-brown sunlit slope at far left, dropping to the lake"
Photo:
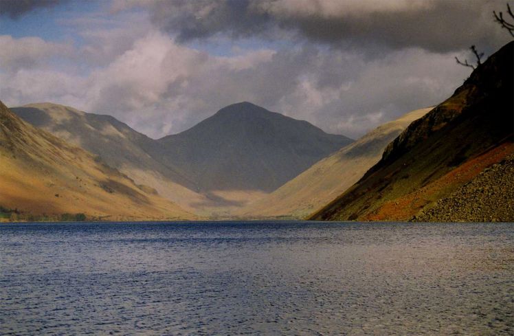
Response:
[{"label": "golden-brown sunlit slope at far left, dropping to the lake", "polygon": [[[21,219],[194,216],[90,153],[23,122],[0,102],[0,209]],[[61,217],[64,216],[64,217]]]}]

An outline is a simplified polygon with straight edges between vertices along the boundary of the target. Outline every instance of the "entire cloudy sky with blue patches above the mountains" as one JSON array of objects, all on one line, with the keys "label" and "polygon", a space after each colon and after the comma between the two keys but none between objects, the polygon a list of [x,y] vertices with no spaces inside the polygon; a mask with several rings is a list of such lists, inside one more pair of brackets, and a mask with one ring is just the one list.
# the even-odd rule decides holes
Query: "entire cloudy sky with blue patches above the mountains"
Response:
[{"label": "entire cloudy sky with blue patches above the mountains", "polygon": [[0,0],[0,100],[150,137],[243,100],[359,137],[447,98],[509,41],[487,0]]}]

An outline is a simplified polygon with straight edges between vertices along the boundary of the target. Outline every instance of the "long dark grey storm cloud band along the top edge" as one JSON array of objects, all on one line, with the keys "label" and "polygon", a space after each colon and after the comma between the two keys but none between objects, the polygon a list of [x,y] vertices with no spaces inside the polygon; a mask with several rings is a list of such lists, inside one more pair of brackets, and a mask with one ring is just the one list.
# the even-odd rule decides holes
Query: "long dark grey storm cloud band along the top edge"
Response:
[{"label": "long dark grey storm cloud band along the top edge", "polygon": [[451,52],[476,44],[491,52],[509,36],[493,21],[503,1],[203,0],[143,1],[179,41],[268,36],[279,32],[336,47],[421,47]]}]

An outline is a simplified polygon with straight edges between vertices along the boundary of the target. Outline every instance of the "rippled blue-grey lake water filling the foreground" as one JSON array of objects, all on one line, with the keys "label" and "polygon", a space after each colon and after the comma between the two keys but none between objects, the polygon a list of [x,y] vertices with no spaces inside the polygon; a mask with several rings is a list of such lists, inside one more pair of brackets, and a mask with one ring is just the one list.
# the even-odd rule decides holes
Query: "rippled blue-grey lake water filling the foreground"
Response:
[{"label": "rippled blue-grey lake water filling the foreground", "polygon": [[514,335],[514,224],[4,224],[0,334]]}]

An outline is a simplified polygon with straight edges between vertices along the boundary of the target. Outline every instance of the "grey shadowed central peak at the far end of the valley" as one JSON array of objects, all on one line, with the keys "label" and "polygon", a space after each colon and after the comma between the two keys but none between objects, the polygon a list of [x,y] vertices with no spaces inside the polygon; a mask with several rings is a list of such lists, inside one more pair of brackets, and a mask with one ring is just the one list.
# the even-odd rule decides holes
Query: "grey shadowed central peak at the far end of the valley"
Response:
[{"label": "grey shadowed central peak at the far end of the valley", "polygon": [[187,171],[200,191],[271,192],[350,142],[309,122],[241,102],[159,139],[161,148],[148,151]]}]

